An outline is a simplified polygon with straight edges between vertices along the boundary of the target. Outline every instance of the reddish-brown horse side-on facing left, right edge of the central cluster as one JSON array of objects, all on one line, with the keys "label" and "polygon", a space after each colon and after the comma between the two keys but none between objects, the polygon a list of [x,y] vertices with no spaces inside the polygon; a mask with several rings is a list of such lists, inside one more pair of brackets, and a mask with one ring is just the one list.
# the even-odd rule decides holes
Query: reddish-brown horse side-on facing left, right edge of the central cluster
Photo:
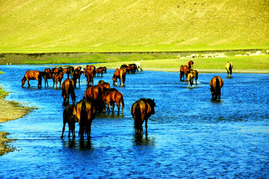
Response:
[{"label": "reddish-brown horse side-on facing left, right edge of the central cluster", "polygon": [[110,104],[112,113],[114,113],[115,102],[116,102],[117,107],[118,107],[118,114],[120,114],[120,104],[122,107],[122,114],[123,114],[123,108],[124,108],[123,93],[121,93],[119,91],[116,91],[116,92],[108,91],[101,96],[101,99],[103,101],[107,102],[107,112],[108,113],[110,111],[109,104]]}]

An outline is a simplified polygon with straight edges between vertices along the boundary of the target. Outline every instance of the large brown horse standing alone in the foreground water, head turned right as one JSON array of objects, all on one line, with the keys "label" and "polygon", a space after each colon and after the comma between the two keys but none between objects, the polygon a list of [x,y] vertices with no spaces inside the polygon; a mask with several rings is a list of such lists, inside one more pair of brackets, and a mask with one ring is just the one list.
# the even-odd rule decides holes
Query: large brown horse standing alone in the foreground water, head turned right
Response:
[{"label": "large brown horse standing alone in the foreground water, head turned right", "polygon": [[151,114],[155,114],[154,107],[156,106],[154,99],[140,98],[135,101],[131,107],[131,114],[134,118],[134,131],[135,134],[143,132],[142,124],[145,121],[145,129],[147,133],[147,119]]}]

